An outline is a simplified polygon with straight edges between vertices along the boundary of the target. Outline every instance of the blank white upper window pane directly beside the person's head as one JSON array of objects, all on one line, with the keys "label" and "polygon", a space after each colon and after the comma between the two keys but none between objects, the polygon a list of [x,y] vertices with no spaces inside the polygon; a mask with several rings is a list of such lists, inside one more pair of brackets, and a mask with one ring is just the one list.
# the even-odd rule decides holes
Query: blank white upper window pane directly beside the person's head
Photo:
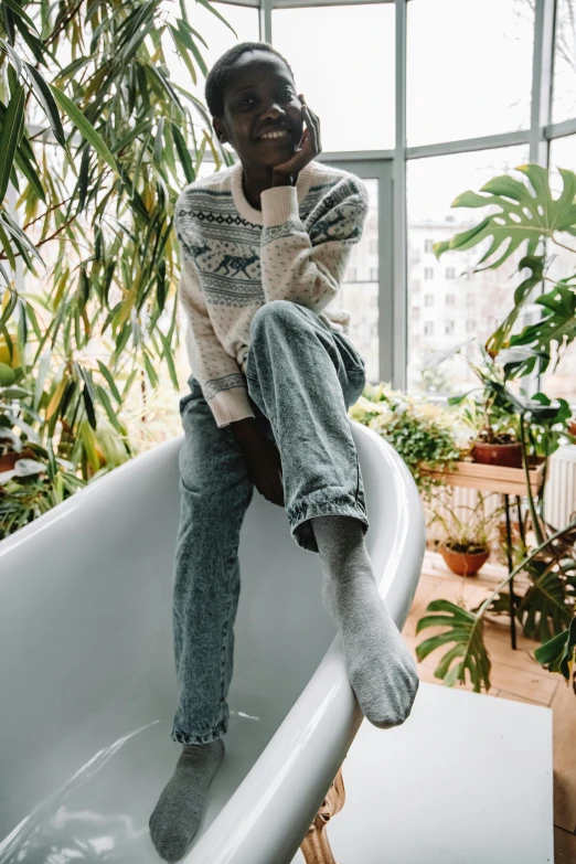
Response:
[{"label": "blank white upper window pane directly beside the person's head", "polygon": [[320,117],[323,150],[394,147],[394,4],[278,9],[273,42]]}]

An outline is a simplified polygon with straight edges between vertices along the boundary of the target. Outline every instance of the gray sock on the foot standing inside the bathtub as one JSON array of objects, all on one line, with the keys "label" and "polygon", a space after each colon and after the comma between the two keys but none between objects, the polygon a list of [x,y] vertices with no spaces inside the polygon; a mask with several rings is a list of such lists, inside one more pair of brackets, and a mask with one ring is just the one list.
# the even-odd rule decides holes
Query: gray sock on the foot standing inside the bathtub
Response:
[{"label": "gray sock on the foot standing inside the bathtub", "polygon": [[194,839],[206,792],[224,756],[224,742],[185,744],[175,771],[150,817],[152,843],[164,861],[179,861]]}]

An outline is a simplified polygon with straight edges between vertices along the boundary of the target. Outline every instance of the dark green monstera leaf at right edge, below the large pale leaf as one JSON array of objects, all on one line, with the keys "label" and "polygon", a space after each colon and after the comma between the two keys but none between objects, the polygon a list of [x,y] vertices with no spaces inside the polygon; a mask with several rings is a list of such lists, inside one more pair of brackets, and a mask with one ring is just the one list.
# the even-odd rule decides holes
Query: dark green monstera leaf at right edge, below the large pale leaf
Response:
[{"label": "dark green monstera leaf at right edge, below the large pale leaf", "polygon": [[[576,339],[576,284],[570,285],[563,279],[552,291],[538,297],[536,303],[543,307],[542,319],[513,335],[510,345],[530,345],[550,356],[553,342],[558,349],[566,349]],[[555,365],[558,364],[562,353],[558,350]],[[547,365],[545,362],[543,372]]]}]

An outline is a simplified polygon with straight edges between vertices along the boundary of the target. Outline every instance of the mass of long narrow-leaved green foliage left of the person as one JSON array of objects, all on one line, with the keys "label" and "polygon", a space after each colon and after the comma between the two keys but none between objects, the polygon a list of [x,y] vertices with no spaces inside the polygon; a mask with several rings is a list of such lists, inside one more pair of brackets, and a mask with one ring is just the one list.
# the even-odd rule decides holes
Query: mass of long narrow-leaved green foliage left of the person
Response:
[{"label": "mass of long narrow-leaved green foliage left of the person", "polygon": [[198,8],[0,0],[0,537],[135,452],[162,370],[178,390],[173,206],[228,161],[168,67],[206,73]]}]

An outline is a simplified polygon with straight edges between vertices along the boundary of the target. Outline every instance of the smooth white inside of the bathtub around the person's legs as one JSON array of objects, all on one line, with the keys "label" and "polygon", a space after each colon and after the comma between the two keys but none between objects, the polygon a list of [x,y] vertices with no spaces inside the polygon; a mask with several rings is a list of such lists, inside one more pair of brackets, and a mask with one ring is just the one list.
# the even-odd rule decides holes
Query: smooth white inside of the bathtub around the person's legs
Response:
[{"label": "smooth white inside of the bathtub around the person's legs", "polygon": [[[371,438],[354,435],[369,516],[378,523],[366,542],[383,563],[398,501],[373,470]],[[148,817],[180,751],[170,739],[179,444],[79,493],[0,554],[0,864],[158,861]],[[241,572],[231,727],[201,833],[335,634],[318,555],[296,545],[284,511],[257,493]]]}]

